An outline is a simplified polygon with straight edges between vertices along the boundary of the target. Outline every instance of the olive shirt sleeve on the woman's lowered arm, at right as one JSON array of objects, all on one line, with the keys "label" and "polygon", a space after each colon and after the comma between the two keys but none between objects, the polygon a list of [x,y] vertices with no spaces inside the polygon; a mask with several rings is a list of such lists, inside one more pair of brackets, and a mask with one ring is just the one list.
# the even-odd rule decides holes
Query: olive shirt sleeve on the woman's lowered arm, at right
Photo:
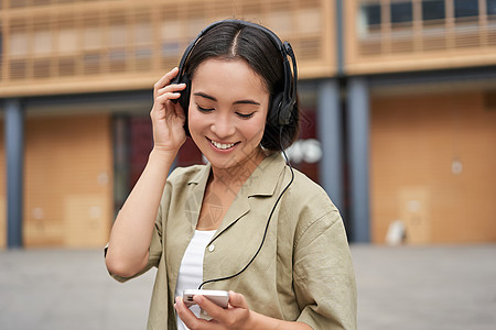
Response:
[{"label": "olive shirt sleeve on the woman's lowered arm, at right", "polygon": [[356,283],[343,220],[333,209],[295,241],[298,321],[317,329],[356,329]]}]

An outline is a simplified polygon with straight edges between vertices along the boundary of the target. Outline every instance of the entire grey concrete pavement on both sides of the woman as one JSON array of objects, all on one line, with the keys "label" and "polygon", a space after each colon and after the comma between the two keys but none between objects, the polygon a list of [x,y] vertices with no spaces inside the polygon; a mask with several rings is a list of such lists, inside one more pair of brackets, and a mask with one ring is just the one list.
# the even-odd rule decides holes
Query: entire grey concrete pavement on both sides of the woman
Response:
[{"label": "entire grey concrete pavement on both sides of the woman", "polygon": [[[496,244],[352,253],[358,329],[496,329]],[[144,329],[153,276],[119,284],[100,251],[2,251],[0,329]]]}]

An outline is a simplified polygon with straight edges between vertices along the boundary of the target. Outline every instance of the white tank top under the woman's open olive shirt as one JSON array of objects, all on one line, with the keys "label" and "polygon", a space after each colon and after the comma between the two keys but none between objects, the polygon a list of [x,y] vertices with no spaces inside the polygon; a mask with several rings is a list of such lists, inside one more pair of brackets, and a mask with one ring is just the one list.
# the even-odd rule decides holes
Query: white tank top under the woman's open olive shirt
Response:
[{"label": "white tank top under the woman's open olive shirt", "polygon": [[[216,230],[195,230],[186,252],[184,252],[175,286],[175,297],[183,296],[185,289],[197,289],[203,282],[203,257],[205,249],[214,237]],[[200,307],[194,305],[190,308],[196,317],[200,317]],[[177,329],[186,330],[183,321],[177,318]]]}]

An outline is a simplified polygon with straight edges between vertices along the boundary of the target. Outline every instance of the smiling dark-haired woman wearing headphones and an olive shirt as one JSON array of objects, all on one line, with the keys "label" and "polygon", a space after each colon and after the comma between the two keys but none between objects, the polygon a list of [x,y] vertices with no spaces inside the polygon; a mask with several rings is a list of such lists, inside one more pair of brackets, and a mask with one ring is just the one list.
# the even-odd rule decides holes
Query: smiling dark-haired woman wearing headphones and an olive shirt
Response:
[{"label": "smiling dark-haired woman wearing headphones and an olive shirt", "polygon": [[[154,147],[106,254],[118,280],[158,267],[149,329],[356,328],[341,216],[281,156],[300,120],[288,56],[295,74],[288,43],[222,21],[154,85]],[[208,164],[166,177],[186,134]],[[181,297],[198,286],[229,290],[229,306],[195,296],[212,319],[193,312]]]}]

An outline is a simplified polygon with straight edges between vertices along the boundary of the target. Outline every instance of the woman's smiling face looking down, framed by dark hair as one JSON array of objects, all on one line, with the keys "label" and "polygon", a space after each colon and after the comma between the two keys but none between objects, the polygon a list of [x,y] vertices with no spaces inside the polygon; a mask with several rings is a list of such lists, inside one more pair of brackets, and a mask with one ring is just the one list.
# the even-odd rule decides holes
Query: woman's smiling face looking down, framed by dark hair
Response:
[{"label": "woman's smiling face looking down, framed by dark hair", "polygon": [[214,168],[229,168],[260,152],[269,107],[263,79],[242,59],[206,59],[191,86],[188,127]]}]

